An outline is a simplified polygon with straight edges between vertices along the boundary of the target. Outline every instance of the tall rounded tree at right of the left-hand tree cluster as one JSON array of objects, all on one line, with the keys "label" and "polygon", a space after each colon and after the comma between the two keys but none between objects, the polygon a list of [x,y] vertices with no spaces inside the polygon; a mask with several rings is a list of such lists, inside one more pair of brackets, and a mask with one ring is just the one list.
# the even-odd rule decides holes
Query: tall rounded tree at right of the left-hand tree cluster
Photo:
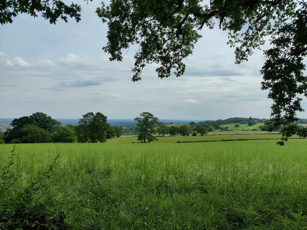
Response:
[{"label": "tall rounded tree at right of the left-hand tree cluster", "polygon": [[76,129],[78,139],[80,142],[106,142],[109,126],[107,117],[102,113],[86,113],[79,119]]}]

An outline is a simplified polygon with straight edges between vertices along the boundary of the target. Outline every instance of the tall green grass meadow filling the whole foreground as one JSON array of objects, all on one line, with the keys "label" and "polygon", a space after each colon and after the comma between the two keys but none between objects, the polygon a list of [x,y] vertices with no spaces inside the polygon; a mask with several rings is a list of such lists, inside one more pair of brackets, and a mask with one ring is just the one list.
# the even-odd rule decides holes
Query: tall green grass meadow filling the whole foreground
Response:
[{"label": "tall green grass meadow filling the whole foreground", "polygon": [[307,228],[306,139],[125,138],[0,145],[0,229]]}]

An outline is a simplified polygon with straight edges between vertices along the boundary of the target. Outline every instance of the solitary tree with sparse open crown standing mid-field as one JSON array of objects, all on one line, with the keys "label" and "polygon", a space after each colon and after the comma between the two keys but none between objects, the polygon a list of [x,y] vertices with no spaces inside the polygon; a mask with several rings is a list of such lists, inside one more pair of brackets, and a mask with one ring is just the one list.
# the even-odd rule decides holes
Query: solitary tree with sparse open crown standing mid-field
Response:
[{"label": "solitary tree with sparse open crown standing mid-field", "polygon": [[136,130],[138,131],[138,140],[143,143],[158,140],[153,135],[156,134],[154,127],[159,124],[157,117],[154,117],[151,113],[144,112],[140,113],[140,117],[135,117],[134,121],[137,121]]}]

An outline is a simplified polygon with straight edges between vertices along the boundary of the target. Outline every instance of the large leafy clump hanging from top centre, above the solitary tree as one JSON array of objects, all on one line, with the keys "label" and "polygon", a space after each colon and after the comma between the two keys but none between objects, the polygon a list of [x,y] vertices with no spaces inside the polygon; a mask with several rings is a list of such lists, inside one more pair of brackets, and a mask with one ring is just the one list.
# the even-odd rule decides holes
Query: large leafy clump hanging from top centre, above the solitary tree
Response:
[{"label": "large leafy clump hanging from top centre, above the solitary tree", "polygon": [[[193,30],[198,21],[186,15],[191,6],[182,3],[174,6],[173,2],[167,1],[114,0],[110,6],[102,3],[96,10],[103,22],[108,23],[108,43],[103,50],[111,54],[110,60],[121,61],[122,50],[130,44],[140,47],[134,55],[134,82],[141,80],[143,68],[152,62],[161,64],[156,69],[160,78],[168,77],[173,69],[176,76],[184,73],[182,59],[192,54],[200,35]],[[190,4],[200,10],[197,4]],[[169,10],[174,8],[180,13],[172,14]]]}]

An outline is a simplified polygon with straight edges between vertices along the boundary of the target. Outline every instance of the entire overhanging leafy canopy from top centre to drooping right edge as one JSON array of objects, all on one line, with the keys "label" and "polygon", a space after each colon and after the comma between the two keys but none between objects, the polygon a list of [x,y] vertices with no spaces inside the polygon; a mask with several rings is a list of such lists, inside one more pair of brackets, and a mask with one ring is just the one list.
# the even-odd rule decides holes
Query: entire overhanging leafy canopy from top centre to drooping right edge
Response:
[{"label": "entire overhanging leafy canopy from top centre to drooping right edge", "polygon": [[[185,72],[183,60],[192,54],[204,26],[228,32],[228,44],[235,47],[236,63],[248,60],[255,48],[270,37],[264,51],[266,62],[260,71],[262,90],[268,90],[272,126],[283,125],[284,141],[293,134],[290,123],[304,111],[301,96],[307,96],[303,59],[307,54],[307,3],[304,0],[111,0],[97,9],[108,24],[104,51],[110,60],[121,61],[123,50],[138,45],[134,55],[132,81],[141,80],[143,68],[157,63],[159,78]],[[217,23],[216,23],[217,22]],[[286,129],[288,127],[288,129]],[[306,136],[307,129],[298,133]]]}]

